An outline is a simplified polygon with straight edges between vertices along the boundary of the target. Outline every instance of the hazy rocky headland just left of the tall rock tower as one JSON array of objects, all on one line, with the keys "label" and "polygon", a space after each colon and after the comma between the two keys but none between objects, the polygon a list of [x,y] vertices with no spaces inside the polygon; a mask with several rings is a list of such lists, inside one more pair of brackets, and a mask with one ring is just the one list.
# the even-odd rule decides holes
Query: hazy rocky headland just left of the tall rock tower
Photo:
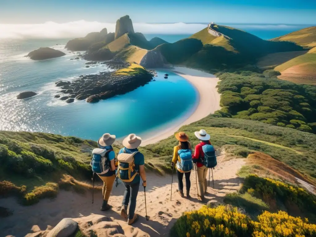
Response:
[{"label": "hazy rocky headland just left of the tall rock tower", "polygon": [[[65,48],[70,51],[86,51],[94,43],[101,42],[107,39],[108,37],[107,29],[104,28],[100,32],[91,32],[88,33],[83,38],[76,38],[69,40]],[[110,36],[110,38],[112,35]]]}]

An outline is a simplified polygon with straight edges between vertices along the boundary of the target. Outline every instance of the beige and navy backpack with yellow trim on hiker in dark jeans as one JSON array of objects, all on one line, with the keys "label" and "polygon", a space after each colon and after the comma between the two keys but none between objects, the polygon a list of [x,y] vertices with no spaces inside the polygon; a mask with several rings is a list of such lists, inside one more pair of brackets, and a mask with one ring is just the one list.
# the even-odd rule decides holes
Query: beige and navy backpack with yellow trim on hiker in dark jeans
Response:
[{"label": "beige and navy backpack with yellow trim on hiker in dark jeans", "polygon": [[139,151],[135,151],[132,154],[123,153],[118,155],[118,169],[117,169],[117,176],[123,182],[131,182],[134,180],[138,171],[135,170],[135,163],[134,163],[134,155]]}]

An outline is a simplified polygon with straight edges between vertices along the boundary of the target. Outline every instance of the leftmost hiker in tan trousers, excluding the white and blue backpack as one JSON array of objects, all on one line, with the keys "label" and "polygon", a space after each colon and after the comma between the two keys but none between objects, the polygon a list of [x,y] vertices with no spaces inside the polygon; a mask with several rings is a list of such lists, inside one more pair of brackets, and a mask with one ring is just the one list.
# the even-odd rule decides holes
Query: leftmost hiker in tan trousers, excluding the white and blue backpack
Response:
[{"label": "leftmost hiker in tan trousers, excluding the white and blue backpack", "polygon": [[106,150],[106,162],[109,162],[108,167],[109,169],[105,171],[105,173],[98,174],[100,179],[103,181],[103,188],[102,188],[102,195],[103,195],[103,203],[101,207],[101,211],[106,211],[111,209],[111,205],[107,202],[110,198],[110,194],[113,188],[113,183],[115,180],[115,152],[113,151],[112,144],[115,141],[116,136],[111,135],[109,133],[103,134],[102,137],[98,140],[98,147],[100,149]]}]

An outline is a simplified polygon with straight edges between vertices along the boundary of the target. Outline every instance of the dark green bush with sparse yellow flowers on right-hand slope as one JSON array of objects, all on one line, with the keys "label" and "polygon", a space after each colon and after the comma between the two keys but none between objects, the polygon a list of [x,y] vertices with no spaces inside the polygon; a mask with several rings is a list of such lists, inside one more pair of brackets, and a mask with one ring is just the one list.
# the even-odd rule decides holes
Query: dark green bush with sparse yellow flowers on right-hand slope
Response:
[{"label": "dark green bush with sparse yellow flowers on right-hand slope", "polygon": [[262,198],[272,209],[276,208],[276,200],[279,200],[283,204],[296,204],[301,210],[316,210],[315,196],[300,187],[274,179],[251,174],[245,178],[242,190]]}]

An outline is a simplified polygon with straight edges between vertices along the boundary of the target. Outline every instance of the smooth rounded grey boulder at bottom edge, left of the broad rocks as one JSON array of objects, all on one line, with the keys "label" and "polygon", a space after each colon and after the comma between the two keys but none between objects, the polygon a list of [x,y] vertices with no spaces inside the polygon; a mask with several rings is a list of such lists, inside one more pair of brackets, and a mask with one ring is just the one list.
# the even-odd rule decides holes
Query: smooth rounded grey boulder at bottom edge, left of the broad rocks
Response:
[{"label": "smooth rounded grey boulder at bottom edge, left of the broad rocks", "polygon": [[78,227],[78,223],[71,218],[64,218],[55,226],[46,237],[69,237]]}]

